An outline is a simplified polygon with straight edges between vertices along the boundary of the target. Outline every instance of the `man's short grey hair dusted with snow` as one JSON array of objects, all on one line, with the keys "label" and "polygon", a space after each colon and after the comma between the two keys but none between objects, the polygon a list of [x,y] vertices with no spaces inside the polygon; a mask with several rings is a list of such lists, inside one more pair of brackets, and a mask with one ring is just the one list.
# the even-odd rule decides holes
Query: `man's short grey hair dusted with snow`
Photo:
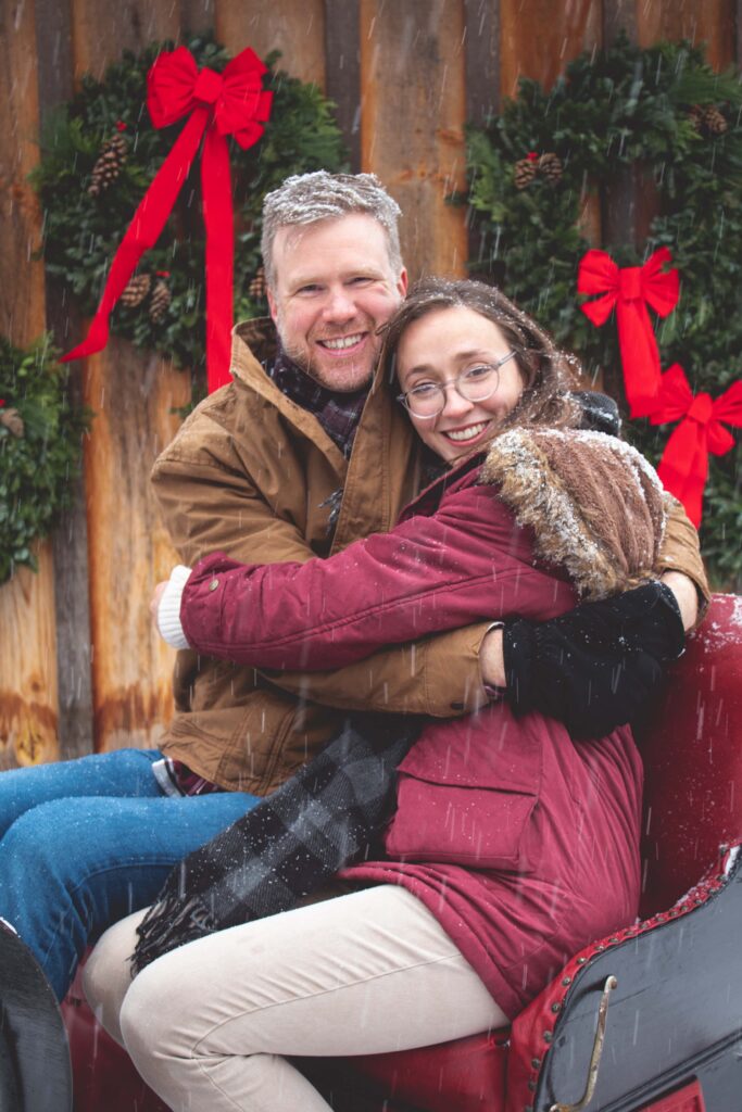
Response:
[{"label": "man's short grey hair dusted with snow", "polygon": [[263,266],[266,282],[276,288],[273,246],[279,228],[289,225],[317,224],[342,216],[363,214],[373,217],[384,228],[389,248],[389,262],[395,276],[402,271],[399,230],[402,210],[389,197],[375,173],[296,173],[283,186],[266,193],[263,201]]}]

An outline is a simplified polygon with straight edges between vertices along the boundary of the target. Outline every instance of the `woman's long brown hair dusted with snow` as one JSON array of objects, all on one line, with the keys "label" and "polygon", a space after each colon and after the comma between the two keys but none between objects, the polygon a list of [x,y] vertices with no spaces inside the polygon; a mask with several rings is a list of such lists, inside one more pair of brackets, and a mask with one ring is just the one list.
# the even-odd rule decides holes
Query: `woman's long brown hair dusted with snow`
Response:
[{"label": "woman's long brown hair dusted with snow", "polygon": [[499,328],[515,351],[525,383],[521,400],[499,431],[513,425],[574,428],[581,424],[582,409],[570,394],[580,369],[577,359],[561,351],[551,336],[496,286],[481,281],[423,278],[413,286],[383,329],[383,363],[388,381],[396,379],[397,348],[409,325],[428,312],[459,307],[478,312]]}]

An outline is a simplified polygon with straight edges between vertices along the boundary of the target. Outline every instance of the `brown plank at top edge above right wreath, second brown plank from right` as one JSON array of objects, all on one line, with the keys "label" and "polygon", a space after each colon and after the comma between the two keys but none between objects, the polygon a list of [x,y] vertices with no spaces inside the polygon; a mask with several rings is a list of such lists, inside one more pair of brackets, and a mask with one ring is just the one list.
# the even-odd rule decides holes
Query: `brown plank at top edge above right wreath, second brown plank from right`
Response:
[{"label": "brown plank at top edge above right wreath, second brown plank from right", "polygon": [[501,0],[499,9],[504,97],[515,96],[521,77],[551,88],[572,58],[602,42],[594,0]]}]

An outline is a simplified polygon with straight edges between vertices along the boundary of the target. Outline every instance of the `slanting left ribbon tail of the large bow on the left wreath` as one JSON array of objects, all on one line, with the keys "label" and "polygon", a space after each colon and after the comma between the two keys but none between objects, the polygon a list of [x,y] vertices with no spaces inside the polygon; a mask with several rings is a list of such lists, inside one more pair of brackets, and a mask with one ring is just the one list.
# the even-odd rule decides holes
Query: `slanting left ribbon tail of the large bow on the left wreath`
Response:
[{"label": "slanting left ribbon tail of the large bow on the left wreath", "polygon": [[109,317],[113,307],[126,289],[139,259],[159,239],[190,165],[196,157],[208,118],[208,109],[196,108],[176,139],[172,150],[139,202],[131,224],[113,257],[106,288],[88,329],[88,335],[81,344],[62,356],[61,363],[81,359],[106,347],[109,336]]}]

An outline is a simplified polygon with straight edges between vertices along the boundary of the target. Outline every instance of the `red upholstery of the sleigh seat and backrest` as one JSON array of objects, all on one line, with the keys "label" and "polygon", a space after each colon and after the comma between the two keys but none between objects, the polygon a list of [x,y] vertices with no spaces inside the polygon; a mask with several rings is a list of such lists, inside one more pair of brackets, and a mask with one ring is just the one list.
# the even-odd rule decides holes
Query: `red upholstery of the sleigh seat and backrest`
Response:
[{"label": "red upholstery of the sleigh seat and backrest", "polygon": [[[742,598],[716,595],[701,632],[673,669],[655,727],[644,747],[645,883],[642,915],[669,907],[715,860],[720,842],[742,834]],[[557,979],[558,981],[560,979]],[[557,983],[554,982],[554,984]],[[551,986],[543,1001],[551,1001]],[[75,991],[71,993],[76,995]],[[542,996],[518,1017],[545,1007]],[[62,1006],[75,1071],[75,1112],[166,1112],[133,1068],[96,1025],[77,993]],[[445,1006],[445,1002],[442,1002]],[[503,1112],[530,1103],[527,1063],[509,1076],[507,1032],[441,1046],[346,1060],[374,1088],[421,1112]],[[524,1040],[524,1043],[526,1040]],[[514,1048],[514,1060],[518,1059]],[[524,1053],[526,1046],[523,1048]],[[522,1056],[522,1055],[521,1055]],[[527,1055],[526,1055],[527,1056]],[[516,1080],[517,1078],[517,1080]],[[694,1094],[689,1094],[694,1098]],[[378,1101],[378,1112],[394,1105]],[[662,1103],[652,1105],[663,1109]],[[669,1104],[667,1109],[675,1109]],[[696,1105],[680,1105],[696,1112]],[[698,1106],[702,1112],[702,1105]]]}]

